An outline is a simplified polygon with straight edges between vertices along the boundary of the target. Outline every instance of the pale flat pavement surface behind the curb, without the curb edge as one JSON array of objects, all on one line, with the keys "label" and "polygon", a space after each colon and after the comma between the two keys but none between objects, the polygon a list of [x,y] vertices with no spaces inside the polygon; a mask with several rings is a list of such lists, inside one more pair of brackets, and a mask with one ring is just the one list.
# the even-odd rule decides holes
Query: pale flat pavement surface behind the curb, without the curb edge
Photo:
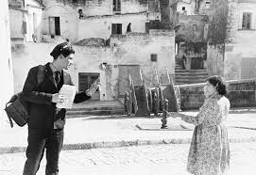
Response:
[{"label": "pale flat pavement surface behind the curb, without the curb edge", "polygon": [[[196,115],[196,112],[187,112]],[[4,122],[2,122],[4,123]],[[168,124],[185,124],[180,119],[168,118]],[[0,127],[1,148],[27,146],[27,127],[10,128],[8,123]],[[119,142],[133,140],[162,140],[162,139],[191,139],[193,131],[143,131],[136,125],[148,126],[148,128],[160,128],[160,118],[139,117],[108,117],[92,116],[88,118],[67,119],[65,126],[64,144],[96,143],[96,142]],[[230,114],[228,126],[247,127],[250,129],[230,128],[230,138],[248,138],[256,136],[256,113]],[[16,151],[17,152],[17,151]]]}]

